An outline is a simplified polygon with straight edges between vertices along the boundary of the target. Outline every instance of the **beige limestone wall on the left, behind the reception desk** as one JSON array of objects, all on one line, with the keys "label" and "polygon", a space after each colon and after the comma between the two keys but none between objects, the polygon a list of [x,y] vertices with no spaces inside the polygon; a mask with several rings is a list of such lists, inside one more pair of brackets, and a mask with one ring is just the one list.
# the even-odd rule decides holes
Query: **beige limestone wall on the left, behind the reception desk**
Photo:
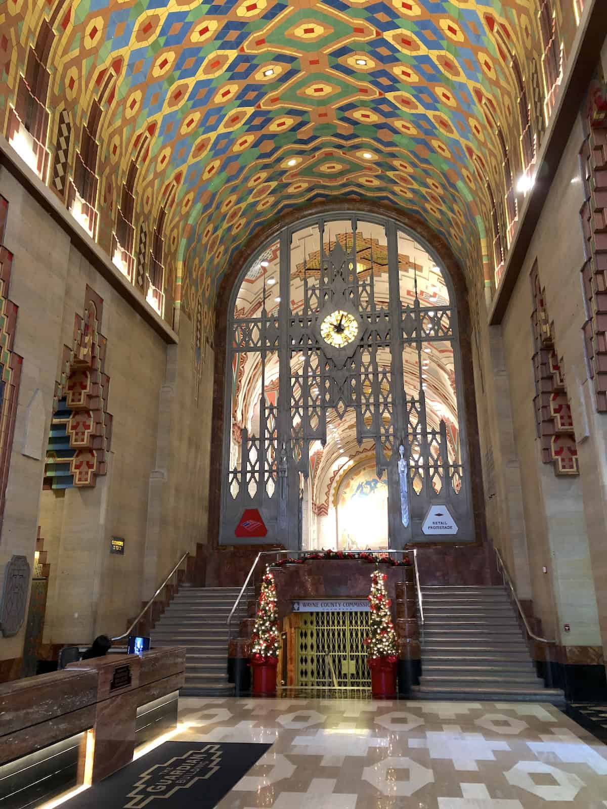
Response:
[{"label": "beige limestone wall on the left, behind the reception desk", "polygon": [[[181,317],[179,345],[170,345],[4,168],[0,194],[9,202],[4,244],[14,254],[9,297],[19,306],[14,348],[23,357],[0,577],[14,553],[33,565],[40,525],[51,565],[44,642],[89,642],[124,631],[180,553],[206,540],[212,386],[202,384],[195,400],[189,320]],[[87,285],[104,301],[108,473],[93,488],[42,492],[55,382]],[[207,378],[211,369],[207,350]],[[37,416],[29,407],[36,391]],[[41,437],[34,451],[26,434],[29,444]],[[110,555],[112,536],[125,539],[124,556]],[[0,637],[0,661],[21,656],[23,633]]]}]

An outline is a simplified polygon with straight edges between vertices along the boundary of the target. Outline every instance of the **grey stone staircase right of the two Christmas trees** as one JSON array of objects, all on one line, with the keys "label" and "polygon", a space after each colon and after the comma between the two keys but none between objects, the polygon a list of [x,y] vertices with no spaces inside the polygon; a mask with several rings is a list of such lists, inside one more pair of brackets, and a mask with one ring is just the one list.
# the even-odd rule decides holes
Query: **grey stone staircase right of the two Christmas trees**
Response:
[{"label": "grey stone staircase right of the two Christmas trees", "polygon": [[537,676],[505,587],[422,587],[418,699],[564,703]]}]

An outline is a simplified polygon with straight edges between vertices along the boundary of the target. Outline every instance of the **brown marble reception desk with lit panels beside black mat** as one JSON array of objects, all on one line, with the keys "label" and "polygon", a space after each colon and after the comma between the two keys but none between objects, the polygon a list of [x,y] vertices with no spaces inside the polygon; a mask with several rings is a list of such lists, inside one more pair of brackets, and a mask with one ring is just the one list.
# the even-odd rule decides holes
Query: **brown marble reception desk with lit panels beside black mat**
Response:
[{"label": "brown marble reception desk with lit panels beside black mat", "polygon": [[100,781],[135,748],[176,727],[185,649],[71,663],[0,685],[2,807]]}]

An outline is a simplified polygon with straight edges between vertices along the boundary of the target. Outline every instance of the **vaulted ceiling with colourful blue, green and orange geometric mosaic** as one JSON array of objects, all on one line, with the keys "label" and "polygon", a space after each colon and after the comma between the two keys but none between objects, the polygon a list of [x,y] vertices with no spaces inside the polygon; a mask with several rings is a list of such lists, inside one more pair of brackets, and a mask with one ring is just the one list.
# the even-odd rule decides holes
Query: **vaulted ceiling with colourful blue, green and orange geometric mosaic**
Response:
[{"label": "vaulted ceiling with colourful blue, green and orange geometric mosaic", "polygon": [[337,195],[422,217],[480,284],[495,272],[493,209],[505,246],[516,227],[507,172],[533,170],[550,112],[546,53],[560,70],[582,6],[11,0],[0,116],[11,137],[19,93],[36,96],[53,191],[69,202],[70,177],[91,172],[99,244],[112,253],[121,227],[134,283],[163,264],[168,301],[209,332],[244,240]]}]

